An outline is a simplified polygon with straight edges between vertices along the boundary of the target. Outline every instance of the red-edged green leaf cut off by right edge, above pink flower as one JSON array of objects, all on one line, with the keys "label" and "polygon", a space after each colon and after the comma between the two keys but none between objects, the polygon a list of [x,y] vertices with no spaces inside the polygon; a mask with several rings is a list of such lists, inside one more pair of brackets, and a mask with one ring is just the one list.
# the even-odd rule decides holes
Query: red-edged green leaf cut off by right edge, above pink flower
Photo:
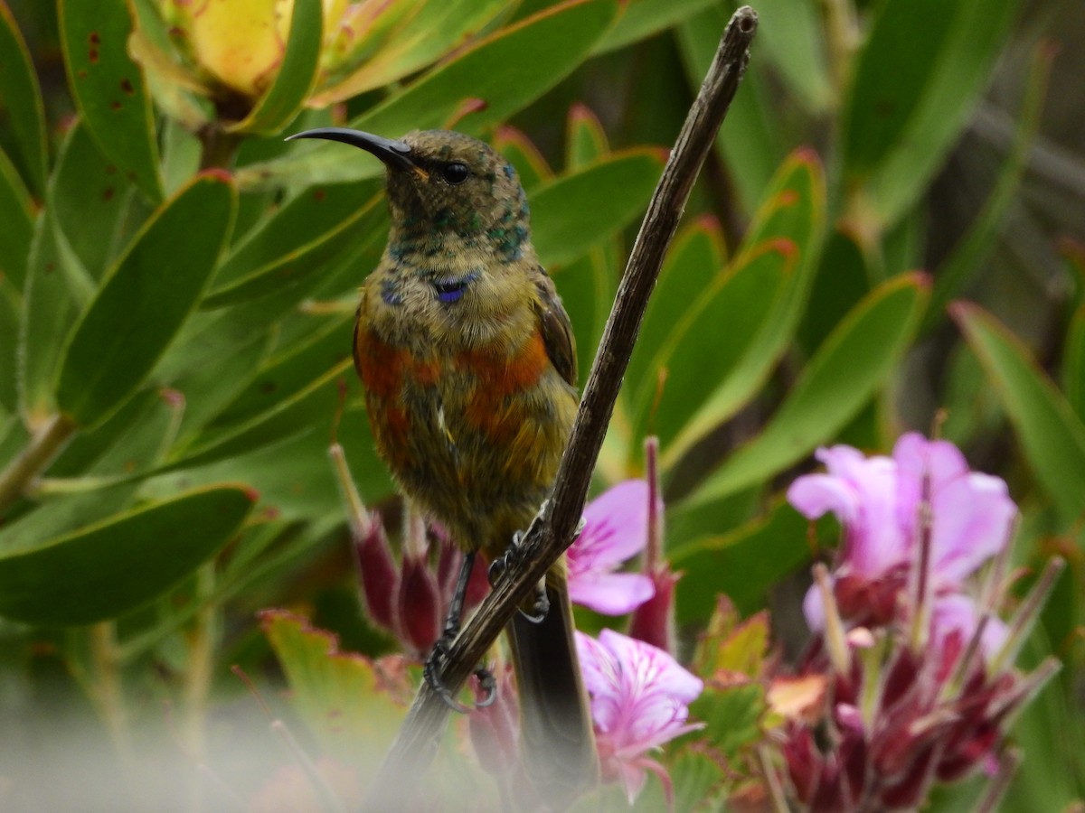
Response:
[{"label": "red-edged green leaf cut off by right edge, above pink flower", "polygon": [[1085,512],[1085,425],[1021,341],[968,302],[949,307],[1017,430],[1021,451],[1068,529]]}]

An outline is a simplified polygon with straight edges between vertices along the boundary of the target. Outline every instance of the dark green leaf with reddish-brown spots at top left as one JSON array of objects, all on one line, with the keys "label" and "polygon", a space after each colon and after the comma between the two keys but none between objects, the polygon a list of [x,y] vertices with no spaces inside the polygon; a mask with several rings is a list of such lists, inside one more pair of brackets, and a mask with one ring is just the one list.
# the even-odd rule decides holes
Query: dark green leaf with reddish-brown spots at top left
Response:
[{"label": "dark green leaf with reddish-brown spots at top left", "polygon": [[64,64],[79,112],[102,152],[157,203],[163,193],[151,96],[128,55],[128,4],[59,0],[59,8]]}]

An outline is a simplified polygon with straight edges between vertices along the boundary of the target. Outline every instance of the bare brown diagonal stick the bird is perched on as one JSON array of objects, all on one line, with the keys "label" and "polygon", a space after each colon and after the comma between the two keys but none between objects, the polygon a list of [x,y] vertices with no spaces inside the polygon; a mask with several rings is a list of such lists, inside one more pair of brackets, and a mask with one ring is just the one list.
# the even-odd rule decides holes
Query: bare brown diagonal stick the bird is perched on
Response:
[{"label": "bare brown diagonal stick the bird is perched on", "polygon": [[[522,540],[522,562],[506,570],[449,651],[442,681],[454,694],[512,618],[516,606],[535,589],[573,540],[648,298],[667,246],[678,228],[690,189],[745,72],[748,49],[756,29],[756,12],[750,7],[742,7],[735,12],[724,31],[712,67],[693,100],[630,253],[614,308],[584,387],[553,494]],[[408,800],[420,787],[420,777],[436,753],[447,715],[448,707],[423,682],[378,773],[367,800],[367,810],[409,808]]]}]

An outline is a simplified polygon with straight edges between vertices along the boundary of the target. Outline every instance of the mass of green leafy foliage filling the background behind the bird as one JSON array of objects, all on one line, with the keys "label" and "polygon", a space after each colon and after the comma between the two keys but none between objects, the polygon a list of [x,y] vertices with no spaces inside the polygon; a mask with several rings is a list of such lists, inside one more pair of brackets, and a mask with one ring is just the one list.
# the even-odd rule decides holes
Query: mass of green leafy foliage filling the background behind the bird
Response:
[{"label": "mass of green leafy foliage filling the background behind the bird", "polygon": [[[277,7],[222,3],[227,21]],[[72,759],[51,745],[59,708],[77,722],[92,709],[90,731],[113,745],[87,763],[99,782],[87,798],[123,808],[174,793],[199,809],[216,782],[295,798],[227,669],[263,674],[272,649],[296,701],[275,714],[315,732],[305,747],[373,759],[342,726],[357,743],[396,719],[371,661],[332,654],[286,615],[264,616],[265,637],[254,615],[290,606],[344,648],[387,647],[354,601],[327,461],[335,437],[362,496],[394,507],[349,359],[354,291],[387,228],[380,165],[282,137],[343,124],[489,139],[524,181],[586,371],[660,147],[732,10],[363,5],[279,4],[289,25],[268,17],[280,38],[252,50],[271,48],[281,69],[231,85],[229,65],[208,61],[231,44],[215,38],[245,44],[254,28],[201,33],[171,0],[0,0],[0,808],[75,803],[47,779]],[[1020,721],[1025,760],[1006,809],[1021,811],[1085,793],[1085,250],[1073,242],[1085,220],[1034,230],[1043,257],[1058,246],[1064,260],[1043,266],[1045,298],[1005,271],[1024,250],[1008,218],[1029,194],[1043,210],[1026,171],[1050,152],[1043,102],[1068,106],[1061,86],[1047,95],[1052,52],[1035,44],[1045,26],[1059,35],[1060,7],[1032,5],[1038,15],[1016,0],[757,4],[750,69],[597,469],[600,486],[641,474],[643,438],[660,436],[684,629],[703,630],[720,593],[743,614],[775,596],[784,643],[802,633],[780,596],[812,549],[780,494],[818,446],[885,450],[904,428],[933,427],[1005,477],[1023,512],[1019,564],[1054,551],[1070,563],[1034,642],[1067,668]],[[344,13],[353,28],[336,27]],[[1057,157],[1081,179],[1083,153]],[[1080,207],[1080,180],[1067,185]],[[972,191],[963,216],[945,215],[946,189]],[[979,304],[947,308],[960,297]],[[819,525],[816,539],[832,534]],[[329,727],[317,707],[352,697]],[[762,704],[746,684],[706,696],[701,713],[733,757],[760,736]],[[148,731],[216,782],[141,754]],[[232,747],[246,736],[258,754]],[[703,754],[668,764],[681,809],[728,791]],[[350,798],[340,778],[324,776]],[[959,803],[952,791],[937,802]]]}]

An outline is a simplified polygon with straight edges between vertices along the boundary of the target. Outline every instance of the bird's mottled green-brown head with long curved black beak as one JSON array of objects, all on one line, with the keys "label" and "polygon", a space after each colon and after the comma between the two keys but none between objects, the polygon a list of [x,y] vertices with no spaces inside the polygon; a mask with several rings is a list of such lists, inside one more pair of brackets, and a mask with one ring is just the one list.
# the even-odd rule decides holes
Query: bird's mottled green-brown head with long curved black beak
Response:
[{"label": "bird's mottled green-brown head with long curved black beak", "polygon": [[291,138],[342,141],[380,158],[387,170],[392,245],[489,249],[519,259],[529,236],[527,197],[512,165],[489,145],[449,130],[414,130],[400,140],[345,128]]}]

